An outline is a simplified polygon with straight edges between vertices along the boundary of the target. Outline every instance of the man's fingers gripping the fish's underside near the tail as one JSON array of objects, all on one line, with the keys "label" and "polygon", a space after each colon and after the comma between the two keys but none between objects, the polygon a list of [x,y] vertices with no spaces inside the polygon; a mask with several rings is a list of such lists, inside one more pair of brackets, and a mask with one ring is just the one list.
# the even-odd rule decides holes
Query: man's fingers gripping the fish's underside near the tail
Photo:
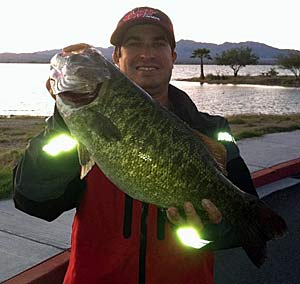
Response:
[{"label": "man's fingers gripping the fish's underside near the tail", "polygon": [[[220,210],[210,200],[203,199],[202,207],[207,212],[210,223],[219,224],[222,221],[222,214]],[[191,202],[185,202],[183,208],[186,219],[180,216],[177,208],[168,208],[167,217],[169,221],[176,226],[188,224],[201,231],[204,225],[193,204]]]}]

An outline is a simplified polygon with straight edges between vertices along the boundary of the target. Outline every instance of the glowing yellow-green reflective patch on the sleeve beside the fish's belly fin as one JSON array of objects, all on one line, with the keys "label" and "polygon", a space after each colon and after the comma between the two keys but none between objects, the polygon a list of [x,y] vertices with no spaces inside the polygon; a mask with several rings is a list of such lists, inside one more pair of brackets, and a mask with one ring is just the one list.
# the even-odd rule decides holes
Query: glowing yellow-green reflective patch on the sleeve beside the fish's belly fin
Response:
[{"label": "glowing yellow-green reflective patch on the sleeve beside the fish's belly fin", "polygon": [[77,141],[74,138],[66,134],[60,134],[52,138],[42,149],[51,156],[57,156],[62,152],[74,149],[76,145]]}]

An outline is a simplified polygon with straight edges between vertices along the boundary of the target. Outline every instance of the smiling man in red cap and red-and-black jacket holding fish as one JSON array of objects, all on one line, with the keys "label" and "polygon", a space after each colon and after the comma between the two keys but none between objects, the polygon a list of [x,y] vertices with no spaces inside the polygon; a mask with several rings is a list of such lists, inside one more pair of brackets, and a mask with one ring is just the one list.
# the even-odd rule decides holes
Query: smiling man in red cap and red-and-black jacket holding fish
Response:
[{"label": "smiling man in red cap and red-and-black jacket holding fish", "polygon": [[[169,84],[176,60],[175,38],[163,12],[148,7],[128,12],[111,43],[120,70],[161,105],[213,139],[218,140],[220,131],[230,132],[224,118],[198,112],[184,92]],[[49,138],[68,131],[56,109],[47,124],[16,168],[14,201],[20,210],[48,221],[77,208],[64,283],[213,283],[212,252],[184,247],[173,225],[189,223],[212,236],[211,249],[236,245],[234,233],[214,204],[203,200],[208,224],[202,223],[190,202],[184,204],[183,215],[169,208],[166,218],[165,210],[120,191],[97,166],[80,180],[75,150],[55,159],[43,153]],[[227,149],[228,177],[256,194],[233,140],[220,143]]]}]

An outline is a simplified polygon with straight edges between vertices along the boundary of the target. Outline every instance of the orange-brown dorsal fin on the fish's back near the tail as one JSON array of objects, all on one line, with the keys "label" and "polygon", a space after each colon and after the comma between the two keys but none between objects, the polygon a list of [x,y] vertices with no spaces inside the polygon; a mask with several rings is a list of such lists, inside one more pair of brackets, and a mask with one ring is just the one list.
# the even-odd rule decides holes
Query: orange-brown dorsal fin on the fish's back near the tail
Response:
[{"label": "orange-brown dorsal fin on the fish's back near the tail", "polygon": [[198,130],[195,133],[201,138],[204,144],[207,146],[210,154],[216,161],[219,170],[226,176],[226,163],[227,163],[227,151],[223,144],[216,142],[214,139],[202,134]]}]

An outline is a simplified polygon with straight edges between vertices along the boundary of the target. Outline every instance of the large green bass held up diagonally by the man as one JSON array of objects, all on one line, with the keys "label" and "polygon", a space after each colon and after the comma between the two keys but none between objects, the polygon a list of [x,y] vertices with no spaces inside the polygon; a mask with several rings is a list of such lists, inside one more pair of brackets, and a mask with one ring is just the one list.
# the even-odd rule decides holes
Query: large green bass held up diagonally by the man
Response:
[{"label": "large green bass held up diagonally by the man", "polygon": [[211,200],[234,228],[250,260],[260,267],[266,243],[287,232],[285,220],[226,177],[224,146],[161,106],[109,62],[79,43],[50,61],[56,106],[78,141],[82,178],[96,164],[122,191],[160,208],[193,203],[207,219]]}]

